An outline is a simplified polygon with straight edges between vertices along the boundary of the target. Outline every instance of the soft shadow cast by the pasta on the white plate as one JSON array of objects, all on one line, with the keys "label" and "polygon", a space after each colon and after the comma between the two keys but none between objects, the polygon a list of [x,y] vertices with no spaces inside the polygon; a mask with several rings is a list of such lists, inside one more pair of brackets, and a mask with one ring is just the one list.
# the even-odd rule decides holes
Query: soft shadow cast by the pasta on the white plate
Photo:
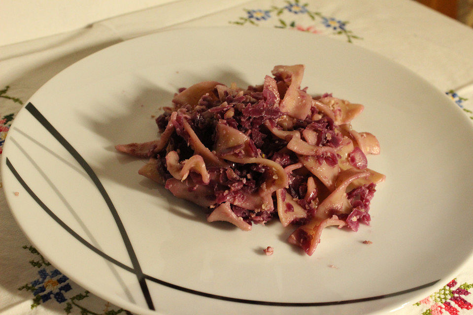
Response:
[{"label": "soft shadow cast by the pasta on the white plate", "polygon": [[[209,80],[195,74],[183,73],[183,75],[191,77],[192,82],[195,83]],[[111,180],[127,189],[135,189],[156,196],[156,198],[164,198],[168,205],[166,210],[177,217],[210,224],[206,221],[206,209],[174,197],[160,184],[138,174],[138,169],[147,162],[147,159],[135,158],[115,150],[116,144],[146,142],[159,138],[160,134],[155,119],[160,114],[162,107],[172,105],[173,93],[161,89],[145,79],[139,78],[138,80],[140,80],[141,88],[130,99],[126,108],[120,108],[120,111],[116,112],[107,112],[100,118],[86,115],[80,118],[85,128],[93,130],[99,137],[110,143],[109,146],[103,148],[109,154],[100,155],[101,158],[91,161],[91,167],[100,178]],[[222,71],[215,80],[227,85],[235,82],[242,87],[248,86],[237,73],[233,72]],[[116,97],[123,98],[123,95],[116,95]],[[236,229],[235,226],[227,222],[212,222],[211,224],[218,229]]]}]

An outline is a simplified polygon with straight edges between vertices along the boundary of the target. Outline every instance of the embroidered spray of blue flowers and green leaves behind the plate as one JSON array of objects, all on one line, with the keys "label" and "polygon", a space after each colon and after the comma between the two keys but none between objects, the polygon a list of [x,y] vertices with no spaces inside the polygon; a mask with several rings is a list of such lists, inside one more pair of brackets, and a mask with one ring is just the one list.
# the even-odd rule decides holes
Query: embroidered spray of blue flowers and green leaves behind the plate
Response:
[{"label": "embroidered spray of blue flowers and green leaves behind the plate", "polygon": [[[347,21],[341,21],[336,19],[335,17],[324,16],[320,12],[311,11],[308,8],[308,3],[301,4],[299,0],[285,2],[286,5],[284,6],[273,5],[267,9],[244,9],[247,16],[239,17],[237,21],[230,21],[230,23],[236,25],[245,25],[249,23],[258,26],[259,24],[257,22],[271,22],[275,20],[275,17],[278,17],[277,22],[275,21],[275,24],[273,24],[275,28],[291,28],[294,30],[311,33],[322,33],[323,29],[331,30],[335,35],[345,35],[347,41],[350,43],[352,42],[352,39],[361,39],[361,37],[354,35],[352,31],[347,30]],[[291,18],[289,17],[291,14],[307,16],[307,20],[310,24],[296,25],[295,21],[288,22],[291,21]],[[286,19],[284,19],[283,17],[286,17]],[[316,24],[320,24],[322,26],[322,29],[319,30],[317,28],[317,25],[314,24],[314,22],[316,22]]]}]

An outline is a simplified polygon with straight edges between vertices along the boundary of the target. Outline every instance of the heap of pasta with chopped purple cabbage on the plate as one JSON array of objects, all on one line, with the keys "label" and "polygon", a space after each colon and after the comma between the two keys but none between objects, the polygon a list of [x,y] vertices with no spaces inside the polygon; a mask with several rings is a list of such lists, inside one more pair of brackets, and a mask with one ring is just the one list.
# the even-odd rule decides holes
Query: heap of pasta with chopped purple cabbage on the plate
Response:
[{"label": "heap of pasta with chopped purple cabbage on the plate", "polygon": [[117,145],[148,162],[138,173],[207,209],[207,221],[244,231],[279,219],[289,243],[312,255],[331,225],[369,224],[379,154],[369,132],[350,122],[363,105],[301,89],[304,65],[277,65],[263,85],[215,81],[180,89],[156,119],[159,139]]}]

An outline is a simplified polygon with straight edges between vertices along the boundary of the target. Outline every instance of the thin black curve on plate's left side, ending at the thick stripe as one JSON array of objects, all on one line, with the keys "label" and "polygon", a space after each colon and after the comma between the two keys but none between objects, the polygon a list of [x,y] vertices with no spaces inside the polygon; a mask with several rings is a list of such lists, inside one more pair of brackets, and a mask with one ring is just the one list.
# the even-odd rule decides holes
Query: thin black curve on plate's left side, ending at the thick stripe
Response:
[{"label": "thin black curve on plate's left side, ending at the thick stripe", "polygon": [[21,184],[21,186],[28,192],[28,194],[33,198],[34,201],[36,201],[36,203],[41,207],[43,208],[43,210],[54,220],[56,221],[59,225],[61,225],[62,228],[64,228],[66,231],[68,231],[68,233],[70,235],[72,235],[73,237],[75,237],[79,242],[81,242],[82,244],[84,244],[87,248],[89,248],[90,250],[92,250],[93,252],[96,252],[98,253],[99,255],[101,255],[103,258],[105,258],[106,260],[116,264],[117,266],[119,267],[122,267],[123,269],[125,270],[128,270],[132,273],[135,273],[135,270],[133,268],[130,268],[128,267],[127,265],[121,263],[120,261],[110,257],[109,255],[105,254],[104,252],[102,252],[101,250],[99,250],[98,248],[96,248],[95,246],[93,246],[92,244],[90,244],[89,242],[87,242],[85,239],[83,239],[79,234],[77,234],[73,229],[71,229],[66,223],[64,223],[64,221],[62,221],[61,219],[59,219],[58,216],[56,216],[54,214],[54,212],[51,211],[51,209],[48,208],[48,206],[46,206],[42,201],[41,199],[39,199],[39,197],[34,193],[34,191],[28,186],[28,184],[23,180],[23,178],[20,176],[20,174],[18,174],[17,170],[15,169],[15,167],[13,167],[13,164],[10,162],[10,159],[9,158],[6,158],[6,166],[10,169],[10,171],[12,172],[12,174],[15,176],[15,178],[17,179],[17,181]]}]

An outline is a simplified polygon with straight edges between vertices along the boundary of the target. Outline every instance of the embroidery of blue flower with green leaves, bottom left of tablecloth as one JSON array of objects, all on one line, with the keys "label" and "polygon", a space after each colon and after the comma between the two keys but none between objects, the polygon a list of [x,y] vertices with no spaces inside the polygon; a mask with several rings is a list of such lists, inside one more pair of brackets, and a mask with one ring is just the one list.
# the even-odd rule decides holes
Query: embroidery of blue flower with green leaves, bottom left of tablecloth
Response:
[{"label": "embroidery of blue flower with green leaves, bottom left of tablecloth", "polygon": [[23,249],[34,255],[34,259],[30,260],[30,264],[38,269],[36,279],[18,288],[20,291],[32,292],[34,295],[32,309],[42,303],[56,301],[58,304],[65,305],[64,311],[66,314],[71,314],[73,311],[77,313],[75,311],[78,311],[81,315],[118,315],[122,313],[132,315],[124,309],[113,308],[108,302],[103,302],[104,309],[101,312],[89,310],[82,303],[79,303],[91,297],[89,291],[82,291],[81,288],[77,288],[80,291],[78,293],[73,292],[74,288],[69,278],[51,266],[34,247],[23,246]]}]

